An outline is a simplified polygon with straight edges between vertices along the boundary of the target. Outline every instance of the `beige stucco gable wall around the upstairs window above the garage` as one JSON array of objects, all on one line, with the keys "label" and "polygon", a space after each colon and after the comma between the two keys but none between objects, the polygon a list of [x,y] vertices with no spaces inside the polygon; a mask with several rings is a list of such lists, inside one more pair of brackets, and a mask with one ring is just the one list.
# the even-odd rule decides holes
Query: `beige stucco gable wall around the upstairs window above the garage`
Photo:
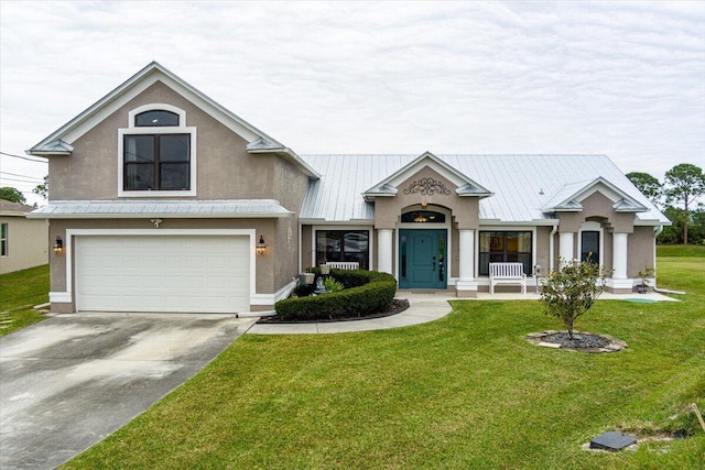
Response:
[{"label": "beige stucco gable wall around the upstairs window above the garage", "polygon": [[[275,162],[280,159],[272,154],[247,153],[243,139],[159,81],[76,140],[70,156],[48,159],[50,198],[117,199],[118,129],[128,128],[130,110],[151,103],[183,109],[186,111],[185,125],[197,128],[197,193],[195,197],[184,198],[273,198]],[[282,196],[288,195],[282,193]],[[296,207],[296,211],[300,208]]]}]

